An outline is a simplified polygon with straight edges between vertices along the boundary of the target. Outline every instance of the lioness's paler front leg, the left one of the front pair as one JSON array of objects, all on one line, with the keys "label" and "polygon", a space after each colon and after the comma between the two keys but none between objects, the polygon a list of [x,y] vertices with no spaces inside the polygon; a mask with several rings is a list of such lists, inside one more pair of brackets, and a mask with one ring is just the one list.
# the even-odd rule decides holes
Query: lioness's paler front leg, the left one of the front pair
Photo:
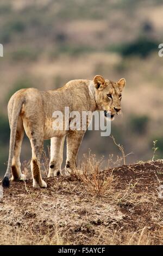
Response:
[{"label": "lioness's paler front leg, the left one of the front pair", "polygon": [[64,141],[65,141],[65,136],[51,138],[51,160],[49,163],[48,177],[58,176],[61,172]]}]

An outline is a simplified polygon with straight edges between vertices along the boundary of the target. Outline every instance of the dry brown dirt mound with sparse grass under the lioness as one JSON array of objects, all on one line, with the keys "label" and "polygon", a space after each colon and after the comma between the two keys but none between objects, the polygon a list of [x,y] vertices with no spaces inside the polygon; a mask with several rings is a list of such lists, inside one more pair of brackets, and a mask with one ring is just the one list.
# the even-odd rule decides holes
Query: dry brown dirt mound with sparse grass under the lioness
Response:
[{"label": "dry brown dirt mound with sparse grass under the lioness", "polygon": [[[107,177],[112,177],[110,184]],[[34,189],[32,180],[11,182],[0,198],[0,244],[163,243],[162,161],[86,178],[47,178],[42,190]],[[92,190],[93,182],[95,188],[102,186],[101,196]]]}]

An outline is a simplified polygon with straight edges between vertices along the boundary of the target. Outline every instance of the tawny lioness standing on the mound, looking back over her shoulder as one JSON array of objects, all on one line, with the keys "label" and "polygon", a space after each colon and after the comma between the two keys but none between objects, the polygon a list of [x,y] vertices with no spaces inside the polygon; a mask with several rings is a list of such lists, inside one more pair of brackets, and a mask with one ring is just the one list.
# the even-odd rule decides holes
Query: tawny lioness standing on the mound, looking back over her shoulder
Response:
[{"label": "tawny lioness standing on the mound, looking back over her shoulder", "polygon": [[[9,186],[11,180],[24,180],[21,173],[20,151],[24,130],[32,147],[31,169],[33,187],[47,187],[40,173],[40,158],[43,140],[51,138],[51,159],[48,177],[61,172],[64,140],[67,137],[67,159],[65,172],[72,173],[76,169],[76,157],[85,130],[54,130],[52,117],[54,111],[64,113],[65,106],[70,111],[103,110],[106,115],[111,113],[111,119],[121,111],[122,89],[126,80],[121,78],[117,83],[95,76],[93,80],[72,80],[57,90],[40,92],[37,89],[21,89],[12,95],[8,103],[10,123],[10,150],[7,172],[2,185]],[[69,117],[68,117],[69,118]]]}]

